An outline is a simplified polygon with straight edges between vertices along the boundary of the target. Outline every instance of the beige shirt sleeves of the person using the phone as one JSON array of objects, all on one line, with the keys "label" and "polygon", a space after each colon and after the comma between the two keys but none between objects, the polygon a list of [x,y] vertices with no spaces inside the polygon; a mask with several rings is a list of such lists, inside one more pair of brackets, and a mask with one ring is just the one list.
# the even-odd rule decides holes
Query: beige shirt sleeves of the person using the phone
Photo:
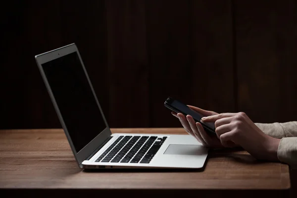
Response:
[{"label": "beige shirt sleeves of the person using the phone", "polygon": [[297,168],[297,122],[255,124],[265,134],[274,138],[282,138],[277,156],[281,162]]}]

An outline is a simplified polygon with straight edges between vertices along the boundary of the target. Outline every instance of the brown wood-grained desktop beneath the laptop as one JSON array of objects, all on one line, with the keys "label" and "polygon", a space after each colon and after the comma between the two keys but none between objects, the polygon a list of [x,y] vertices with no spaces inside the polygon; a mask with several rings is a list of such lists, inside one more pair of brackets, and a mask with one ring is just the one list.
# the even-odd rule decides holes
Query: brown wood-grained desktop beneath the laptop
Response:
[{"label": "brown wood-grained desktop beneath the laptop", "polygon": [[[185,134],[181,128],[113,133]],[[0,130],[0,195],[77,197],[289,197],[288,165],[259,162],[246,151],[211,150],[204,170],[81,170],[61,129]],[[34,189],[34,190],[33,190]],[[9,193],[9,194],[8,194]]]}]

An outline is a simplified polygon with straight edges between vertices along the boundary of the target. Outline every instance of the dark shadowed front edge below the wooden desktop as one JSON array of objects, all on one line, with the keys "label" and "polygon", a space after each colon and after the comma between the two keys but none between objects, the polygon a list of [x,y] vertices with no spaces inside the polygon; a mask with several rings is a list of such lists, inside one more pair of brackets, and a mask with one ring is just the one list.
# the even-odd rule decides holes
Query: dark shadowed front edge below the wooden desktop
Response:
[{"label": "dark shadowed front edge below the wooden desktop", "polygon": [[[3,197],[37,197],[37,198],[265,198],[267,192],[263,190],[180,190],[180,189],[20,189],[0,190]],[[274,198],[289,198],[289,193],[271,190]],[[265,196],[266,195],[266,196]]]}]

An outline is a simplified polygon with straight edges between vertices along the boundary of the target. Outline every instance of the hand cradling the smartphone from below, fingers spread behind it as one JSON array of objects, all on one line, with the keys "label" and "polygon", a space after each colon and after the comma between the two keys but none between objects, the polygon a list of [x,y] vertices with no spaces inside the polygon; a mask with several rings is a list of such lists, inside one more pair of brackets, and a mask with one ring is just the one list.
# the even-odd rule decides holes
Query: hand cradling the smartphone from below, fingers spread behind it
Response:
[{"label": "hand cradling the smartphone from below, fingers spread behind it", "polygon": [[[207,111],[207,110],[198,108],[196,106],[190,106],[190,105],[188,105],[188,106],[204,116],[218,114],[214,111]],[[183,125],[186,132],[189,133],[191,136],[195,137],[198,140],[198,142],[201,143],[204,147],[224,148],[220,139],[218,139],[216,135],[208,135],[204,131],[202,125],[199,122],[195,123],[195,121],[191,115],[187,115],[187,117],[186,117],[182,113],[176,113],[173,111],[171,113],[172,113],[172,115],[174,115],[175,117],[177,117],[179,119],[179,121]],[[237,146],[231,141],[227,141],[226,143],[224,143],[224,145],[228,148]]]}]

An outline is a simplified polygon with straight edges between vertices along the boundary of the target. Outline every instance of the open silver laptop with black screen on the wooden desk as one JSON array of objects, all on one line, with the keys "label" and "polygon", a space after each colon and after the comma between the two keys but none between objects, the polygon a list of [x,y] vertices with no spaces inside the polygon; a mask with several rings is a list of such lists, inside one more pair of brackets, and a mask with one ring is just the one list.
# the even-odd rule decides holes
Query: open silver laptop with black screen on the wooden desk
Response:
[{"label": "open silver laptop with black screen on the wooden desk", "polygon": [[112,134],[75,44],[35,58],[79,167],[203,167],[208,149],[190,135]]}]

